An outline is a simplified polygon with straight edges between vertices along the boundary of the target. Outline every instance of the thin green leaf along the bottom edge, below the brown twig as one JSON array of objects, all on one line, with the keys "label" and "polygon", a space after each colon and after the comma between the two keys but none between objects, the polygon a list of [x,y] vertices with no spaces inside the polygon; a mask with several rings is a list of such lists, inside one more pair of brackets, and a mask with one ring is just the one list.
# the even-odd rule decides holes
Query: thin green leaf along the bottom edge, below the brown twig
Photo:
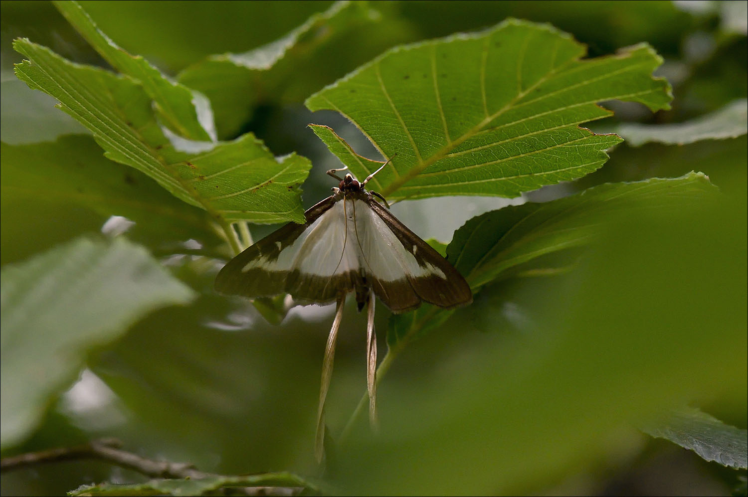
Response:
[{"label": "thin green leaf along the bottom edge, below the brown twig", "polygon": [[[302,487],[307,493],[319,494],[313,484],[291,473],[223,476],[199,480],[151,480],[143,484],[82,485],[68,492],[69,496],[202,496],[214,490],[231,487]],[[213,494],[209,494],[213,495]]]}]

